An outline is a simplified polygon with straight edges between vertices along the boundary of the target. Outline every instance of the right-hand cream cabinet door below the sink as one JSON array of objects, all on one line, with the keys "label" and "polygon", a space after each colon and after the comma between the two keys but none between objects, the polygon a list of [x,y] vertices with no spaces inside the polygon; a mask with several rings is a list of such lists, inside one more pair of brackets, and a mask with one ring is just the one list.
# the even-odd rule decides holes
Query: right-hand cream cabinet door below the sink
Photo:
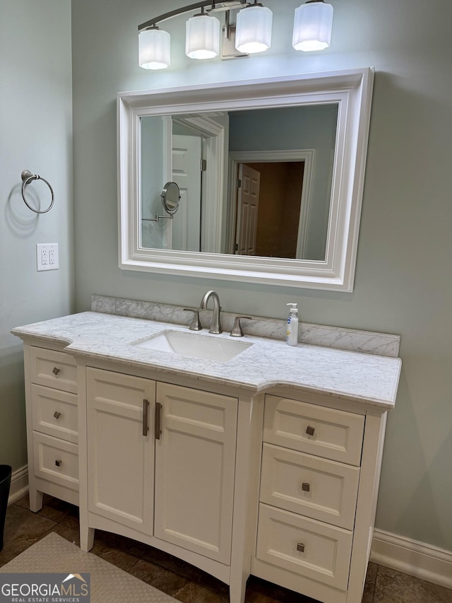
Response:
[{"label": "right-hand cream cabinet door below the sink", "polygon": [[237,399],[157,383],[157,403],[154,535],[229,564]]}]

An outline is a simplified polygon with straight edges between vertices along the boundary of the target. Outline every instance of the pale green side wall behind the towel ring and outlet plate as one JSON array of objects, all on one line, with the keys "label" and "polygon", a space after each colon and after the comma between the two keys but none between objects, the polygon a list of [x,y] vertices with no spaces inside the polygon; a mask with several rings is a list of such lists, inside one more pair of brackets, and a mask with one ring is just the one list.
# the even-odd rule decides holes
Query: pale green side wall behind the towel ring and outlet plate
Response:
[{"label": "pale green side wall behind the towel ring and outlet plate", "polygon": [[[37,216],[20,173],[49,180]],[[41,184],[38,188],[38,184]],[[44,204],[49,191],[37,183]],[[19,324],[72,310],[72,107],[69,0],[0,0],[0,463],[27,463]],[[59,244],[58,271],[37,272],[37,242]]]}]

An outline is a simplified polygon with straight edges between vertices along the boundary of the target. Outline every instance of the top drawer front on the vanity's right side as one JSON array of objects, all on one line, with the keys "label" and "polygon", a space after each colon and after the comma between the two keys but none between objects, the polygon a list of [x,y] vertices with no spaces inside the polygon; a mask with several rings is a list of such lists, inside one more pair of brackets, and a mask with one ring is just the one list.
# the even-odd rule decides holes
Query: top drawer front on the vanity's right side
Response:
[{"label": "top drawer front on the vanity's right side", "polygon": [[364,416],[266,396],[264,442],[359,467]]}]

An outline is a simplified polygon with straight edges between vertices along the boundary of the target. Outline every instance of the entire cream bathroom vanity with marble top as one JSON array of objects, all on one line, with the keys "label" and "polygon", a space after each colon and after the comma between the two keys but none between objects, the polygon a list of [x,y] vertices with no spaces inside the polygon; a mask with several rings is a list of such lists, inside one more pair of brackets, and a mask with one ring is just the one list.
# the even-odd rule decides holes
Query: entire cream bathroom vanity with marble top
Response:
[{"label": "entire cream bathroom vanity with marble top", "polygon": [[[189,332],[182,308],[165,312],[13,329],[24,341],[30,508],[42,493],[78,504],[83,550],[95,529],[123,534],[226,582],[232,603],[250,574],[359,603],[398,338],[331,329],[320,346],[304,343],[303,327],[291,348],[268,336],[283,321],[254,320],[231,347],[228,332]],[[199,339],[189,340],[198,356],[159,350],[165,332],[214,339],[220,356],[203,358]],[[359,337],[374,347],[355,351]],[[340,340],[349,349],[332,347]]]}]

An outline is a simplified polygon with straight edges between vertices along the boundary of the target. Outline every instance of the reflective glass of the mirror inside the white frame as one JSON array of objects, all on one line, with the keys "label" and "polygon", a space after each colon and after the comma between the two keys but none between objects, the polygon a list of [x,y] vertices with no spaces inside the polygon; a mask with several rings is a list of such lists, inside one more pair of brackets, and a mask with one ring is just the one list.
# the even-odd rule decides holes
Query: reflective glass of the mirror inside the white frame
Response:
[{"label": "reflective glass of the mirror inside the white frame", "polygon": [[[141,247],[323,261],[338,103],[141,117]],[[153,222],[162,183],[180,190]]]}]

